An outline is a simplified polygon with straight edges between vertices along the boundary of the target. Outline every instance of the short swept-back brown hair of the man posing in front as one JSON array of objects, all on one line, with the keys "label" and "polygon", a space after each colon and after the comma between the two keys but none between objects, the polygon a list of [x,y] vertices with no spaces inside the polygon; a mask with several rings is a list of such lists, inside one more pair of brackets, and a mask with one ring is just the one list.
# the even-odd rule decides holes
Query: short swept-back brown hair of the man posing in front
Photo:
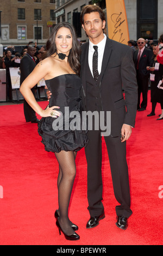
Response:
[{"label": "short swept-back brown hair of the man posing in front", "polygon": [[[84,15],[85,14],[90,14],[90,13],[95,13],[95,12],[99,13],[99,17],[102,21],[106,21],[105,14],[104,14],[103,10],[98,5],[89,4],[89,5],[85,5],[81,11],[81,14],[80,14],[81,23],[84,25]],[[103,29],[103,33],[107,34],[106,27]]]}]

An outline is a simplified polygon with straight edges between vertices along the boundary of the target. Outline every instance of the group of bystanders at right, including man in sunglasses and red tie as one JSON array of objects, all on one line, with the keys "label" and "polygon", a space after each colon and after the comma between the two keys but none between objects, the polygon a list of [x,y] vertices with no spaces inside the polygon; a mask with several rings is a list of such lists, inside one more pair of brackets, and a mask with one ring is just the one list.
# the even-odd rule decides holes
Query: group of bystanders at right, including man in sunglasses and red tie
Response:
[{"label": "group of bystanders at right, including man in sunglasses and red tie", "polygon": [[[163,48],[163,34],[160,35],[158,44],[153,40],[140,38],[135,42],[129,40],[128,45],[133,50],[133,59],[136,69],[138,85],[137,111],[145,111],[147,107],[148,88],[151,88],[152,111],[147,117],[155,115],[156,103],[160,103],[161,114],[156,120],[163,119],[163,87],[158,86],[163,82],[163,65],[159,60],[159,52]],[[161,82],[160,82],[161,84]],[[142,102],[140,102],[142,93]]]}]

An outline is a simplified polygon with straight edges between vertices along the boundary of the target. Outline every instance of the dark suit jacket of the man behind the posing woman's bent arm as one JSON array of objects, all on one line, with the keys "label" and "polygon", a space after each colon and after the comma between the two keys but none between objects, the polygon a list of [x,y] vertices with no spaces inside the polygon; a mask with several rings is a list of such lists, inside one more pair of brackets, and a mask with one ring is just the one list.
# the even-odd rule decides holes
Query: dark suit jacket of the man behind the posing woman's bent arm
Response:
[{"label": "dark suit jacket of the man behind the posing woman's bent arm", "polygon": [[[29,74],[34,70],[36,66],[36,63],[34,60],[26,54],[22,59],[21,59],[21,64],[20,64],[20,70],[21,70],[21,77],[20,77],[20,84],[29,76]],[[35,86],[36,87],[36,86]]]}]

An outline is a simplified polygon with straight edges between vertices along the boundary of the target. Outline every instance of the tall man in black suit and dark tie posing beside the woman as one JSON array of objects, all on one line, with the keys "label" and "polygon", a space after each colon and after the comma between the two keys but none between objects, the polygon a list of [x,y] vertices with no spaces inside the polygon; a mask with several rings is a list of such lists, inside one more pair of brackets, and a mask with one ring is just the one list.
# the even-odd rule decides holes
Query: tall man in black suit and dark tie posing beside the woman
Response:
[{"label": "tall man in black suit and dark tie posing beside the woman", "polygon": [[[82,45],[81,78],[84,109],[111,112],[110,136],[104,136],[108,150],[115,197],[117,227],[127,228],[130,209],[130,188],[126,160],[126,141],[135,125],[137,109],[137,83],[133,53],[129,46],[109,39],[105,34],[105,16],[97,5],[82,9],[81,22],[89,42]],[[93,46],[98,46],[94,50]],[[96,48],[96,47],[95,47]],[[93,75],[94,52],[98,52],[98,78]],[[95,72],[96,73],[96,72]],[[94,77],[93,77],[94,76]],[[122,93],[125,91],[125,100]],[[96,118],[95,118],[96,119]],[[96,121],[96,120],[95,120]],[[89,130],[89,144],[85,148],[87,160],[87,198],[90,220],[86,228],[93,228],[105,217],[102,204],[102,130]]]}]

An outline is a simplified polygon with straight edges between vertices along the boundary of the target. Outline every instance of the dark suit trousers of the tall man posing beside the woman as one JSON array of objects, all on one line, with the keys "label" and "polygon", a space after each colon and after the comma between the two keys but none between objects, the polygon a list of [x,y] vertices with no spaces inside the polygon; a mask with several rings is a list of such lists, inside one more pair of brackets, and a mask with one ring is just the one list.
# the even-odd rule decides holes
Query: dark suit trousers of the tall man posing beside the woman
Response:
[{"label": "dark suit trousers of the tall man posing beside the woman", "polygon": [[[90,216],[99,216],[104,212],[102,204],[103,182],[102,182],[102,137],[101,131],[89,131],[87,133],[90,141],[85,148],[87,160],[87,198]],[[128,178],[128,166],[126,161],[126,142],[121,143],[121,138],[105,136],[111,168],[112,183],[117,202],[116,214],[129,217],[130,210],[130,188]],[[107,182],[105,181],[105,184]],[[111,205],[112,207],[112,205]]]}]

